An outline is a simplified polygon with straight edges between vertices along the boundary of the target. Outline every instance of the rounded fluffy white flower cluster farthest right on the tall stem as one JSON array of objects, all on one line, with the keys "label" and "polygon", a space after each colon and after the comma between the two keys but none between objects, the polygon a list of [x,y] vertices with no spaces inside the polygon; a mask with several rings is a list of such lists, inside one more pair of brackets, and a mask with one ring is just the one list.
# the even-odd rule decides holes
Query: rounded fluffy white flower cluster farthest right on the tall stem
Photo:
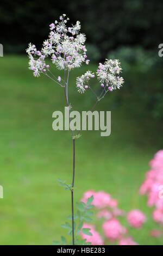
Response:
[{"label": "rounded fluffy white flower cluster farthest right on the tall stem", "polygon": [[121,63],[118,59],[106,59],[104,64],[99,63],[97,78],[102,83],[102,87],[106,86],[110,90],[120,89],[124,83],[123,77],[118,76],[122,70],[120,65]]}]

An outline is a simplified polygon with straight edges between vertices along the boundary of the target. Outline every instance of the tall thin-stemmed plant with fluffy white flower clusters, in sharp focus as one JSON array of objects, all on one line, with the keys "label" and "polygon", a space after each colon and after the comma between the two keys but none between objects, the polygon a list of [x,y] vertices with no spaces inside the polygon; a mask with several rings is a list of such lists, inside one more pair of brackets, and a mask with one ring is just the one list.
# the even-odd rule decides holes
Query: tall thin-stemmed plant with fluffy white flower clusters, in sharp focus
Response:
[{"label": "tall thin-stemmed plant with fluffy white flower clusters, in sharp focus", "polygon": [[[27,48],[27,53],[29,56],[29,69],[33,71],[35,77],[39,77],[41,74],[50,78],[53,82],[57,83],[60,87],[64,88],[64,94],[66,99],[66,106],[68,108],[69,120],[71,104],[68,101],[68,81],[70,71],[74,68],[79,68],[83,63],[89,64],[90,60],[87,59],[86,46],[85,44],[85,34],[79,33],[80,22],[77,21],[76,25],[67,27],[66,23],[69,18],[66,14],[59,17],[59,21],[55,20],[54,23],[49,25],[50,33],[48,39],[43,42],[41,51],[37,51],[34,44],[29,44]],[[50,69],[50,66],[46,64],[45,59],[51,57],[52,63],[59,70],[64,70],[64,77],[55,76]],[[123,84],[123,77],[120,77],[121,66],[119,60],[108,60],[106,59],[104,64],[99,63],[97,68],[97,79],[102,88],[101,93],[97,95],[95,90],[90,85],[90,80],[95,78],[95,74],[92,71],[86,71],[85,74],[76,78],[76,88],[79,93],[85,93],[87,89],[90,89],[93,95],[96,97],[96,102],[93,105],[91,111],[96,107],[97,103],[104,98],[106,93],[112,92],[112,90],[120,89]],[[70,185],[66,184],[64,181],[59,180],[60,185],[64,186],[66,189],[71,191],[71,204],[72,204],[72,244],[76,242],[75,239],[75,228],[74,228],[74,178],[75,178],[75,144],[76,139],[79,138],[79,132],[74,135],[73,129],[71,129],[72,134],[72,144],[73,144],[73,167],[72,167],[72,183]],[[92,199],[91,199],[92,200]],[[89,204],[91,202],[89,199],[87,204],[78,205],[79,210],[89,209]],[[84,215],[83,215],[84,216]],[[83,217],[82,217],[83,218]],[[64,225],[66,226],[66,225]],[[80,229],[82,229],[81,218],[80,218]],[[85,234],[89,233],[89,230],[84,230]],[[77,230],[79,233],[79,229]]]}]

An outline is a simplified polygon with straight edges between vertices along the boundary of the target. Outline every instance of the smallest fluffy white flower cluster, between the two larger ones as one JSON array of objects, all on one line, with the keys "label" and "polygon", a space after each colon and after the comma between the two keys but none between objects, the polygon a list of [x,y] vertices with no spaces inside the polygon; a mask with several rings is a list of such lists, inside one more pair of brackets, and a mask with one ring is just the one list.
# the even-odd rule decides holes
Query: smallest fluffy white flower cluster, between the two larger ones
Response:
[{"label": "smallest fluffy white flower cluster, between the two larger ones", "polygon": [[76,80],[78,92],[84,93],[85,89],[89,87],[89,80],[94,77],[95,75],[91,71],[86,71],[84,75],[78,76]]}]

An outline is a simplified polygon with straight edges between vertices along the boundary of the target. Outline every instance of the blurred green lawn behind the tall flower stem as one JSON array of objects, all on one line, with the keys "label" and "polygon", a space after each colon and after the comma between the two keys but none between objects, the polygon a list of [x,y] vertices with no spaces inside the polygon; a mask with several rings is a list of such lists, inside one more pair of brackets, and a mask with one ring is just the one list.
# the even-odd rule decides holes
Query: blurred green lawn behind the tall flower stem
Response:
[{"label": "blurred green lawn behind the tall flower stem", "polygon": [[[49,245],[64,234],[60,224],[71,214],[70,193],[57,185],[57,178],[71,182],[71,132],[52,130],[52,113],[65,106],[64,92],[46,77],[34,78],[26,57],[0,60],[0,185],[4,188],[0,244]],[[89,92],[79,95],[74,86],[76,76],[86,69],[70,75],[70,102],[75,110],[90,109],[95,102]],[[96,108],[111,111],[111,136],[85,131],[76,141],[74,200],[92,188],[111,193],[126,211],[140,208],[148,216],[147,223],[141,230],[130,229],[130,234],[141,245],[159,245],[161,240],[149,236],[149,230],[157,227],[152,209],[138,193],[148,162],[160,149],[158,125],[136,119],[123,106],[115,107],[114,97],[120,97],[122,90],[107,95]]]}]

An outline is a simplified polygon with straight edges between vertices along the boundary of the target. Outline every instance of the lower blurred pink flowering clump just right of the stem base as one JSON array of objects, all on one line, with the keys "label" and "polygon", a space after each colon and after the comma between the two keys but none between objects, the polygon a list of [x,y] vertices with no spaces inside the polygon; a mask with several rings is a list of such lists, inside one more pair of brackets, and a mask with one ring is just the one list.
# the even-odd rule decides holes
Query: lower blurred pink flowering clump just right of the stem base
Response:
[{"label": "lower blurred pink flowering clump just right of the stem base", "polygon": [[146,222],[146,215],[139,209],[130,210],[126,213],[118,208],[117,200],[104,191],[86,191],[81,199],[82,202],[86,202],[91,194],[93,196],[92,204],[97,211],[97,219],[103,218],[104,220],[102,224],[103,235],[96,230],[95,225],[84,223],[83,227],[90,228],[92,236],[81,233],[82,239],[91,242],[91,245],[107,245],[110,242],[117,242],[118,245],[138,245],[129,235],[128,229],[118,220],[118,216],[126,217],[130,227],[139,229]]}]

